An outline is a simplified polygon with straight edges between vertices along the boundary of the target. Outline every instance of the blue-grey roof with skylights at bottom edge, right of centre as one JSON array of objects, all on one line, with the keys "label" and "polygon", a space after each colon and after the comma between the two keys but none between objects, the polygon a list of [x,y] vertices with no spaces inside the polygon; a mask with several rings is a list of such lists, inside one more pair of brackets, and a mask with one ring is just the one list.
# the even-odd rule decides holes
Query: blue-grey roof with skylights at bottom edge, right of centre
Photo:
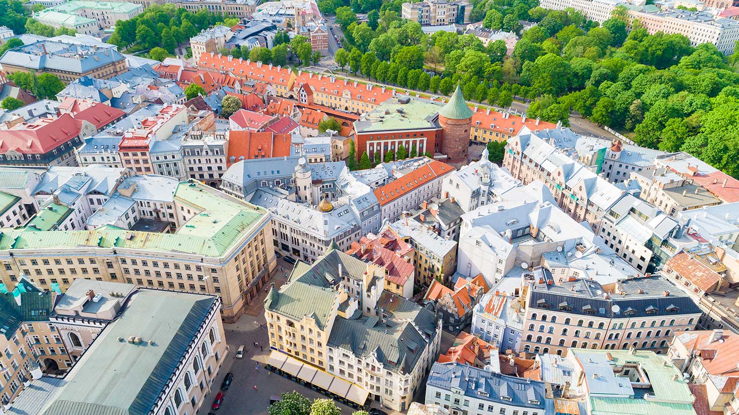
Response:
[{"label": "blue-grey roof with skylights at bottom edge, right of centre", "polygon": [[461,391],[467,397],[503,405],[540,410],[545,408],[544,382],[507,376],[454,362],[435,362],[426,385],[446,391]]}]

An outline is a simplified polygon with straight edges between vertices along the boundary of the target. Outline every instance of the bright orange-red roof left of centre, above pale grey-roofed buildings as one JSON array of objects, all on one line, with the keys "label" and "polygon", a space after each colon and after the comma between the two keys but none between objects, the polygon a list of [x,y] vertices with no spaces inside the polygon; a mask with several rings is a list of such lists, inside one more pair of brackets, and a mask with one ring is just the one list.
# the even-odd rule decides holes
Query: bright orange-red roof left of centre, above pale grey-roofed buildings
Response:
[{"label": "bright orange-red roof left of centre, above pale grey-roofed buildings", "polygon": [[290,135],[287,134],[232,129],[228,132],[228,165],[243,159],[290,155],[290,144]]}]

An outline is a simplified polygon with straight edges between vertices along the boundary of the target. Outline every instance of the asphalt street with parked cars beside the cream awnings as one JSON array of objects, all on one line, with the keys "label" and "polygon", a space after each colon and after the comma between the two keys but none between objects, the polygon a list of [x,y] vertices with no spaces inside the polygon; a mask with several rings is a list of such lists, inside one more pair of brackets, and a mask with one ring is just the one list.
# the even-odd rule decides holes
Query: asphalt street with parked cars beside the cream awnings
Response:
[{"label": "asphalt street with parked cars beside the cream awnings", "polygon": [[[290,275],[293,266],[286,263],[282,258],[277,260],[278,271],[270,280],[276,288],[279,288],[287,282],[285,274]],[[284,267],[282,271],[280,267]],[[279,375],[273,374],[265,369],[265,362],[270,354],[269,340],[267,328],[265,324],[264,306],[262,305],[267,293],[262,290],[259,298],[253,300],[251,304],[259,304],[256,309],[256,316],[251,314],[242,315],[234,324],[224,324],[226,342],[228,343],[228,355],[225,362],[214,381],[214,388],[205,398],[205,402],[200,408],[199,414],[217,413],[219,415],[265,415],[268,412],[270,404],[270,396],[279,395],[282,392],[298,391],[308,399],[325,398],[309,388],[305,388],[290,379],[285,379]],[[258,342],[262,348],[255,347],[254,342]],[[236,350],[239,345],[245,346],[245,353],[242,359],[236,359]],[[257,366],[259,367],[257,369]],[[216,394],[220,392],[220,385],[223,378],[228,372],[234,374],[234,380],[228,391],[223,391],[225,398],[223,404],[218,411],[211,409],[211,403]],[[254,386],[256,385],[256,390]],[[338,404],[344,414],[352,414],[353,409],[346,405]]]}]

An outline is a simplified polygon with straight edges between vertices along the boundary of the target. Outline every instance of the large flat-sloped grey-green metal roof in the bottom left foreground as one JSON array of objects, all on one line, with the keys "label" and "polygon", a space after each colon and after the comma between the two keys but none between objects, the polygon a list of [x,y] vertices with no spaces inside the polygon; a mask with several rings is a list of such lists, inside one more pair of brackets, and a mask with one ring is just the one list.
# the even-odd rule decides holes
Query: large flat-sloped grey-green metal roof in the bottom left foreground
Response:
[{"label": "large flat-sloped grey-green metal roof in the bottom left foreground", "polygon": [[[149,414],[216,301],[140,289],[69,371],[67,385],[43,413]],[[131,336],[143,342],[118,340]]]}]

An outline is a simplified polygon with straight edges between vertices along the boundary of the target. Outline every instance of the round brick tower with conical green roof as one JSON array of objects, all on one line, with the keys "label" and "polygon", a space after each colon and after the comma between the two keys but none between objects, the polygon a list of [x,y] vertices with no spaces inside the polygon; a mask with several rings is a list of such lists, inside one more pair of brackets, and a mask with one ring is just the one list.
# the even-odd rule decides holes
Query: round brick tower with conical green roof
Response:
[{"label": "round brick tower with conical green roof", "polygon": [[444,132],[441,152],[449,156],[449,161],[467,161],[472,114],[457,84],[457,90],[452,94],[452,98],[449,98],[449,102],[439,110],[439,124]]}]

